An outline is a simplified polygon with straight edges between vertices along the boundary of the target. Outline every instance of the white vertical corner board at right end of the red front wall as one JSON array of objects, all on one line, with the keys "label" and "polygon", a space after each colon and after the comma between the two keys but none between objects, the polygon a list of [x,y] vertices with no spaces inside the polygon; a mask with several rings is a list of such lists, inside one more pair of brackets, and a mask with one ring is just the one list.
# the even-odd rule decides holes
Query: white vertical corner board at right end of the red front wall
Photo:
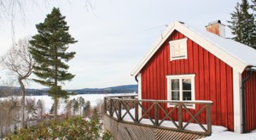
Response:
[{"label": "white vertical corner board at right end of the red front wall", "polygon": [[241,133],[241,73],[233,69],[234,132]]}]

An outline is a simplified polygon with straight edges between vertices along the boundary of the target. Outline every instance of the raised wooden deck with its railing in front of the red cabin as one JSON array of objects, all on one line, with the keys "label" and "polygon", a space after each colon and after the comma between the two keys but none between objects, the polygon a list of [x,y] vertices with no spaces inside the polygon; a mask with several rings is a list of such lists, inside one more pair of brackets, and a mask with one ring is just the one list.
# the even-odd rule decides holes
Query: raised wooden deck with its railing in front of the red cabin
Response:
[{"label": "raised wooden deck with its railing in front of the red cabin", "polygon": [[[145,103],[151,104],[148,109],[143,107]],[[167,111],[167,104],[173,104],[174,107]],[[187,106],[192,104],[201,104],[202,107],[197,112],[190,111]],[[198,139],[212,134],[212,101],[173,102],[138,100],[137,96],[112,96],[104,98],[104,105],[105,126],[118,137],[117,139]],[[207,124],[201,124],[197,119],[204,111]],[[160,112],[165,114],[164,118],[158,117]],[[173,119],[174,112],[177,112],[177,120]],[[190,116],[187,122],[183,122],[184,113]],[[145,123],[145,120],[148,123]],[[167,121],[169,125],[164,125]],[[195,125],[201,128],[201,131],[191,129],[191,126]]]}]

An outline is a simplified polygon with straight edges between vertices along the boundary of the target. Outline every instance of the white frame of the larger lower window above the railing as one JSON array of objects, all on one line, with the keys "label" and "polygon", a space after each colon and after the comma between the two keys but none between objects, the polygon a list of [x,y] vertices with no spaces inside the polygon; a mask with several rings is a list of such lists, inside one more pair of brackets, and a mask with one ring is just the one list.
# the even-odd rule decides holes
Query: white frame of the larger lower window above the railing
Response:
[{"label": "white frame of the larger lower window above the railing", "polygon": [[[172,101],[172,80],[178,79],[181,85],[183,79],[190,79],[191,80],[191,101],[195,101],[195,74],[189,75],[172,75],[166,76],[167,79],[167,100]],[[180,87],[179,89],[179,101],[183,101],[183,89]],[[177,101],[177,100],[173,100]],[[167,104],[167,107],[174,107],[173,104]],[[195,109],[195,104],[187,106],[188,109]]]}]

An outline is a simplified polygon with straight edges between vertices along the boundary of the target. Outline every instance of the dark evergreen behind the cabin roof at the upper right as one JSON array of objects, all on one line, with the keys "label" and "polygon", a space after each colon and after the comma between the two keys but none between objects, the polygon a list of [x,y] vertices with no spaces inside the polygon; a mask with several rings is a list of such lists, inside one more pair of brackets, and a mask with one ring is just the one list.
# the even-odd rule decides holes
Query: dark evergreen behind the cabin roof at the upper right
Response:
[{"label": "dark evergreen behind the cabin roof at the upper right", "polygon": [[256,48],[256,26],[254,15],[249,13],[251,6],[247,0],[236,3],[236,10],[231,14],[231,20],[228,25],[235,35],[233,38],[236,42],[241,42],[250,47]]}]

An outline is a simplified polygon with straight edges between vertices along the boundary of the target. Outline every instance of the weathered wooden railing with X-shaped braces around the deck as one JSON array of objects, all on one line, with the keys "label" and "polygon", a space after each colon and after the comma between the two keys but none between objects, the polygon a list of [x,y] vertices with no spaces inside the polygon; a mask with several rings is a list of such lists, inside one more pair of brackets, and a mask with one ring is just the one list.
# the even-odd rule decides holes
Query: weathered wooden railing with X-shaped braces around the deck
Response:
[{"label": "weathered wooden railing with X-shaped braces around the deck", "polygon": [[[145,105],[149,104],[147,108]],[[167,104],[172,104],[171,109],[166,109]],[[194,104],[201,104],[201,109],[197,109],[197,112],[191,111],[188,107]],[[212,134],[212,101],[166,101],[166,100],[138,100],[137,95],[133,96],[110,96],[104,98],[105,115],[113,118],[114,120],[131,123],[141,126],[151,126],[169,129],[178,132],[190,132],[200,135],[210,136]],[[134,112],[131,112],[134,110]],[[176,110],[176,111],[175,111]],[[204,112],[206,110],[206,113]],[[164,117],[160,118],[159,113],[164,114]],[[141,113],[139,113],[141,112]],[[151,112],[151,113],[150,113]],[[154,114],[152,115],[152,112]],[[174,113],[176,112],[176,113]],[[205,114],[206,125],[203,125],[197,118]],[[183,121],[183,114],[189,114],[190,118],[186,122]],[[174,119],[173,115],[177,115]],[[130,120],[125,120],[125,117],[130,116]],[[187,116],[187,115],[186,115]],[[142,120],[150,120],[150,124],[142,123]],[[165,121],[171,121],[173,127],[162,125]],[[193,124],[201,127],[202,131],[186,129],[187,126]],[[191,125],[192,126],[192,125]],[[197,126],[197,127],[198,127]]]}]

